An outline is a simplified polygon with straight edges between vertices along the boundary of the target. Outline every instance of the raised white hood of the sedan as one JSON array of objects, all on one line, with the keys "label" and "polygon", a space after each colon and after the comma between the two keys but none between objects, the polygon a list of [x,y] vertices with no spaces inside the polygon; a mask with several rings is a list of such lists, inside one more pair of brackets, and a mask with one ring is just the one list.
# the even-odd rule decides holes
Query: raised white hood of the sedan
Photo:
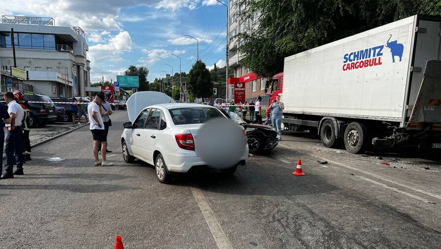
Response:
[{"label": "raised white hood of the sedan", "polygon": [[129,115],[129,121],[133,123],[139,112],[145,107],[167,104],[174,102],[170,96],[161,92],[136,92],[126,102],[127,114]]}]

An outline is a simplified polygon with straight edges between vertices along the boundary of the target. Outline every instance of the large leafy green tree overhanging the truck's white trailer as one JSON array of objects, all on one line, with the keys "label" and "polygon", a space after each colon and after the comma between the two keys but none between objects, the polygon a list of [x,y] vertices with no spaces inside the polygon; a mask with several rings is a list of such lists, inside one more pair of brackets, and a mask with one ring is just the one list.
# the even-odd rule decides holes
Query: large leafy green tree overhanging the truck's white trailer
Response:
[{"label": "large leafy green tree overhanging the truck's white trailer", "polygon": [[[238,0],[242,20],[258,27],[238,35],[241,62],[259,76],[283,71],[284,58],[414,15],[441,14],[434,0]],[[262,14],[260,14],[262,13]],[[246,26],[246,25],[245,25]]]}]

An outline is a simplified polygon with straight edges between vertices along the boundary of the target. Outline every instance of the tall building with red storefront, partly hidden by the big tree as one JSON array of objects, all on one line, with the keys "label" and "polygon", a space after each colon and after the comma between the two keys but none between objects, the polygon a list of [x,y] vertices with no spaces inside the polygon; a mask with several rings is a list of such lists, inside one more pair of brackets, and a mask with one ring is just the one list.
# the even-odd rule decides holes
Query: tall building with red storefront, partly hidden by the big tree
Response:
[{"label": "tall building with red storefront, partly hidden by the big tree", "polygon": [[246,5],[238,4],[237,0],[229,0],[229,16],[228,24],[230,25],[230,33],[228,34],[229,48],[228,48],[228,65],[229,70],[234,71],[234,77],[229,78],[229,84],[233,85],[235,82],[242,82],[245,84],[245,99],[249,103],[250,100],[256,101],[258,96],[261,96],[263,101],[268,102],[269,97],[265,95],[265,88],[267,84],[266,78],[257,78],[256,74],[249,71],[242,65],[240,54],[241,41],[237,38],[237,34],[252,29],[257,24],[257,17],[253,19],[243,20],[239,13]]}]

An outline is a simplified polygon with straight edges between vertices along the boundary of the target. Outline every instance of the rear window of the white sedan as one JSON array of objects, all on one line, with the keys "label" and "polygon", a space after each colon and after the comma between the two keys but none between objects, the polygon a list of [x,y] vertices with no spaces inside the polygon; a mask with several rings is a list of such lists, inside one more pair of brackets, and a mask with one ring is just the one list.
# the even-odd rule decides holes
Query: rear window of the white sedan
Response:
[{"label": "rear window of the white sedan", "polygon": [[175,125],[200,124],[211,118],[223,117],[216,108],[209,107],[182,107],[169,110]]}]

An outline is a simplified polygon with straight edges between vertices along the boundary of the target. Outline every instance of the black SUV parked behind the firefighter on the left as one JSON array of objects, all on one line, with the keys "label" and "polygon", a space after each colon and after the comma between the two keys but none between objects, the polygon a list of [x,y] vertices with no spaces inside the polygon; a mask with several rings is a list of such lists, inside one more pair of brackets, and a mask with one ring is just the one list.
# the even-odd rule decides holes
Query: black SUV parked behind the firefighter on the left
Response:
[{"label": "black SUV parked behind the firefighter on the left", "polygon": [[[37,125],[45,126],[54,123],[57,120],[55,105],[52,100],[42,94],[24,93],[25,101],[29,102],[45,102],[45,103],[28,103],[31,109],[30,128]],[[4,102],[4,93],[0,94],[0,101]]]}]

